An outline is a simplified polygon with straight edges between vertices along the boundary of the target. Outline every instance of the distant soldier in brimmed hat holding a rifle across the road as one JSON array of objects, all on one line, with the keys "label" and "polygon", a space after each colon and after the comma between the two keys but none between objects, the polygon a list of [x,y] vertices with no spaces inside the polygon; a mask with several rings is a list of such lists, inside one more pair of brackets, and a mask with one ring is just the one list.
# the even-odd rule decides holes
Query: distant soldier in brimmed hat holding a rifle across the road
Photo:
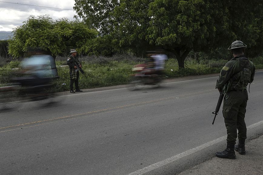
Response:
[{"label": "distant soldier in brimmed hat holding a rifle across the road", "polygon": [[[69,66],[69,75],[70,75],[70,84],[69,84],[69,90],[70,93],[76,92],[82,92],[82,90],[79,89],[78,86],[78,78],[79,78],[79,71],[77,69],[77,66],[74,65],[74,63],[79,64],[79,67],[81,68],[82,65],[79,62],[78,58],[76,58],[77,51],[75,49],[70,50],[71,55],[68,56],[67,64]],[[73,90],[73,83],[75,83],[75,91]]]}]

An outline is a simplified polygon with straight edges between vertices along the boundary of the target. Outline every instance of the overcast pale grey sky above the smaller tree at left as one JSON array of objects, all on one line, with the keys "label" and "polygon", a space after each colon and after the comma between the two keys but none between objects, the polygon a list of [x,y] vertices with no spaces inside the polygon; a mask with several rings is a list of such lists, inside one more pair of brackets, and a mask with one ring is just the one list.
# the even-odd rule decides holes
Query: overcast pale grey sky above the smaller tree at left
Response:
[{"label": "overcast pale grey sky above the smaller tree at left", "polygon": [[64,17],[73,20],[76,15],[73,11],[74,4],[75,0],[0,0],[0,31],[13,31],[13,28],[22,25],[30,15],[49,15],[54,20]]}]

